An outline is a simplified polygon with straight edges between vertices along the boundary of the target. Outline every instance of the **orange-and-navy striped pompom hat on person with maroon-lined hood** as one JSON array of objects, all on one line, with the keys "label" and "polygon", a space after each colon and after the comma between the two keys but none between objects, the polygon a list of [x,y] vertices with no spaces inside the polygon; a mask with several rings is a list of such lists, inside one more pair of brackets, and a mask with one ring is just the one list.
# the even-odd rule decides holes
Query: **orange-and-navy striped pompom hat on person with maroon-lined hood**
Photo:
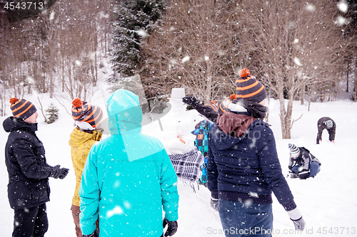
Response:
[{"label": "orange-and-navy striped pompom hat on person with maroon-lined hood", "polygon": [[240,78],[236,80],[237,99],[261,102],[266,98],[266,89],[263,84],[250,74],[248,68],[244,68],[239,72]]}]

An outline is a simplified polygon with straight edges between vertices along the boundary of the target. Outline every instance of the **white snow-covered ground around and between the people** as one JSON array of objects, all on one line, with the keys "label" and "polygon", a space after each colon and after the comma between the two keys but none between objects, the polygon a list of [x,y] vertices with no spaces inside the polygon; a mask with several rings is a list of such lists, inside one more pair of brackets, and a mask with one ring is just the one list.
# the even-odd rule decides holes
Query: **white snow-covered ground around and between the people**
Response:
[{"label": "white snow-covered ground around and between the people", "polygon": [[[39,107],[35,98],[26,99]],[[75,178],[68,144],[74,122],[67,112],[71,107],[70,102],[64,102],[67,111],[58,105],[56,100],[53,102],[60,110],[59,120],[47,125],[40,115],[37,135],[44,143],[47,162],[51,165],[61,164],[62,167],[70,168],[70,172],[63,180],[50,179],[51,201],[47,203],[49,231],[46,236],[75,237],[70,211]],[[104,109],[104,96],[99,96],[93,103]],[[171,154],[187,152],[193,147],[194,136],[190,132],[202,117],[194,110],[186,111],[185,105],[179,100],[172,100],[171,105],[170,112],[160,119],[164,131],[161,131],[159,121],[155,121],[144,126],[143,132],[161,139]],[[293,125],[292,139],[281,138],[278,101],[271,100],[269,108],[269,123],[276,136],[283,173],[288,173],[288,143],[306,147],[322,163],[321,172],[314,179],[288,179],[296,204],[305,218],[306,230],[302,233],[294,231],[293,222],[274,196],[273,236],[357,236],[357,103],[347,100],[312,103],[309,112],[307,105],[294,103],[293,118],[297,119],[301,114],[303,116]],[[10,110],[7,112],[10,113]],[[317,120],[324,116],[333,118],[337,124],[335,144],[328,141],[326,131],[323,132],[323,142],[316,144]],[[0,117],[0,122],[5,118]],[[183,139],[186,144],[177,137]],[[0,147],[5,146],[6,139],[7,133],[1,129]],[[4,152],[1,153],[1,159],[3,162],[0,162],[0,236],[11,236],[14,212],[10,209],[7,199],[8,174]],[[196,192],[191,186],[183,184],[182,181],[178,182],[180,201],[178,232],[175,236],[223,236],[218,213],[213,211],[209,204],[210,192],[203,186],[195,185],[194,188]]]}]

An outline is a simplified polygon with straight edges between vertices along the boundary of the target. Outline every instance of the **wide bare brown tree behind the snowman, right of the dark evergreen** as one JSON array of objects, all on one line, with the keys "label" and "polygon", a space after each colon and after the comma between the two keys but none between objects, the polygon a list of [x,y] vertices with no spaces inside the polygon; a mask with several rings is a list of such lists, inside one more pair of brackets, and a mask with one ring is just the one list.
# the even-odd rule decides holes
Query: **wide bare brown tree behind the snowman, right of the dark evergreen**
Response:
[{"label": "wide bare brown tree behind the snowman, right of the dark evergreen", "polygon": [[146,39],[141,71],[146,94],[185,88],[204,102],[234,93],[239,52],[234,1],[174,0]]}]

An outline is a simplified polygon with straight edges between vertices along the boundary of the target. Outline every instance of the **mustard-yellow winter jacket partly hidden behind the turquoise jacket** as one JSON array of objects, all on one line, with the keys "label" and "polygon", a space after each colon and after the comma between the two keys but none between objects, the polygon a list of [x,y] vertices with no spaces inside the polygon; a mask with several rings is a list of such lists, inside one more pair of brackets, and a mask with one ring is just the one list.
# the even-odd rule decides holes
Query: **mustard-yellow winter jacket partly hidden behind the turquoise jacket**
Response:
[{"label": "mustard-yellow winter jacket partly hidden behind the turquoise jacket", "polygon": [[84,132],[79,127],[74,128],[69,138],[69,145],[71,146],[71,157],[74,167],[74,174],[76,174],[76,189],[72,204],[79,206],[79,187],[81,186],[81,177],[86,164],[86,159],[89,154],[91,146],[101,139],[103,130],[92,130],[91,133]]}]

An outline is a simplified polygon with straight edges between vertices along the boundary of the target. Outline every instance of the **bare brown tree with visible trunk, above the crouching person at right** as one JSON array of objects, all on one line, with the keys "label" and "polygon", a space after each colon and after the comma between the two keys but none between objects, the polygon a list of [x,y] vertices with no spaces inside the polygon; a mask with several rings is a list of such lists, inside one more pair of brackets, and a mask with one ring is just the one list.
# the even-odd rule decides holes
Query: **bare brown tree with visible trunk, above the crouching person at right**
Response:
[{"label": "bare brown tree with visible trunk, above the crouching person at right", "polygon": [[[348,42],[338,25],[333,1],[303,0],[241,1],[241,23],[246,48],[255,57],[249,64],[268,90],[280,101],[283,138],[291,138],[293,100],[306,86],[338,80]],[[286,100],[288,103],[286,105]]]}]

